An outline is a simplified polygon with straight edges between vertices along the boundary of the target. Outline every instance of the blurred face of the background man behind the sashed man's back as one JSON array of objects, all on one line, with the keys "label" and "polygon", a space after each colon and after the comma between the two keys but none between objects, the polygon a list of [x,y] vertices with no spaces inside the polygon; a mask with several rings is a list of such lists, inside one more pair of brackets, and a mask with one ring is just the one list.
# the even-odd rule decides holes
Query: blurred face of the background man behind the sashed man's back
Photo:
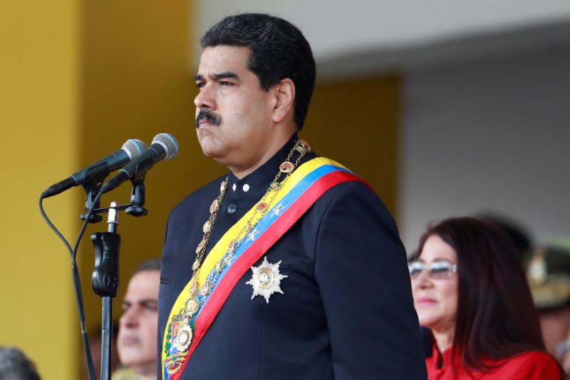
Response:
[{"label": "blurred face of the background man behind the sashed man's back", "polygon": [[117,339],[119,358],[138,374],[156,371],[159,286],[159,270],[138,272],[130,279],[123,300]]}]

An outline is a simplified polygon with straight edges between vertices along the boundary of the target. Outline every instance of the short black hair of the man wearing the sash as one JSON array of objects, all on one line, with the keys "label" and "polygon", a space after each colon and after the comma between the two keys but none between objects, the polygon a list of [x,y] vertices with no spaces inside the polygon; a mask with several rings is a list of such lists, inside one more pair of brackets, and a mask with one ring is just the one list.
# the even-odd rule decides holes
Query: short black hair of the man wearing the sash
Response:
[{"label": "short black hair of the man wearing the sash", "polygon": [[316,68],[311,46],[301,31],[269,14],[235,14],[212,26],[200,40],[208,46],[243,46],[252,53],[247,67],[263,91],[284,78],[295,83],[294,121],[303,128],[315,86]]}]

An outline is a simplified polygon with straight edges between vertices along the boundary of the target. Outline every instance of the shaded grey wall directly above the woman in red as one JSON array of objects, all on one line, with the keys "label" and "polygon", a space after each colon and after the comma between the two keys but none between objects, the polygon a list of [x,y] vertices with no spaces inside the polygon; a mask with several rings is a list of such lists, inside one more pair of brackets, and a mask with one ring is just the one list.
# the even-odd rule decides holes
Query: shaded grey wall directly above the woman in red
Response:
[{"label": "shaded grey wall directly above the woman in red", "polygon": [[499,212],[570,235],[570,44],[405,76],[399,226]]}]

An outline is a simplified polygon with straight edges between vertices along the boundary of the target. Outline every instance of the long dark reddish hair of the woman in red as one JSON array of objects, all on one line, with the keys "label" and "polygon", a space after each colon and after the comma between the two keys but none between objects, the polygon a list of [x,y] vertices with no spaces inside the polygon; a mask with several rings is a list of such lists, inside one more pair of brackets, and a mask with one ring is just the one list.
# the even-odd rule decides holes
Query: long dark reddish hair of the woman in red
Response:
[{"label": "long dark reddish hair of the woman in red", "polygon": [[457,253],[457,319],[452,343],[463,366],[479,371],[484,359],[504,359],[524,351],[545,351],[539,319],[522,260],[497,225],[475,217],[443,220],[429,227]]}]

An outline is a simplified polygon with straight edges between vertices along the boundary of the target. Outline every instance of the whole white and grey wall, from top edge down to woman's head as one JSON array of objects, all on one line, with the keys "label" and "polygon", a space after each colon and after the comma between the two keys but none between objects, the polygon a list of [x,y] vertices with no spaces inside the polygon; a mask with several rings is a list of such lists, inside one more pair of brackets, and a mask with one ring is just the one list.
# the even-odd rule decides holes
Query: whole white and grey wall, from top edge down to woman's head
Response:
[{"label": "whole white and grey wall, from top edge down to woman's head", "polygon": [[537,242],[570,235],[569,0],[196,4],[198,35],[237,11],[288,19],[321,79],[404,72],[398,222],[408,250],[427,222],[478,212],[519,220]]}]

